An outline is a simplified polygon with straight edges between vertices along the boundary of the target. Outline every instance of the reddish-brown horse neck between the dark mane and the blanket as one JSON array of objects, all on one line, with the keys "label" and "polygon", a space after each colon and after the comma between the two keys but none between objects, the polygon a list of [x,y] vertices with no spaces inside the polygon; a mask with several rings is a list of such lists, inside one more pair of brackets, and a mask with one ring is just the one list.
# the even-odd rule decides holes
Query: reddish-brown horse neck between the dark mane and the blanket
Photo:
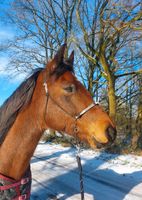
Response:
[{"label": "reddish-brown horse neck between the dark mane and the blanket", "polygon": [[43,95],[37,90],[42,92],[38,87],[35,89],[30,105],[19,113],[0,147],[0,173],[14,179],[20,179],[25,173],[44,132],[46,97],[41,99]]}]

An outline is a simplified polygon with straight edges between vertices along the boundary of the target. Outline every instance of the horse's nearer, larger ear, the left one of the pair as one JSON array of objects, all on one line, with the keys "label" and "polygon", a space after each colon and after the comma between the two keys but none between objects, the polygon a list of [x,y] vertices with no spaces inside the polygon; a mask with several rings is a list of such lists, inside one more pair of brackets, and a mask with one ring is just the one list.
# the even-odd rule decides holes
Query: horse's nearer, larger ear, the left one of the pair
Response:
[{"label": "horse's nearer, larger ear, the left one of the pair", "polygon": [[51,67],[52,72],[63,62],[66,47],[67,45],[63,44],[54,56]]}]

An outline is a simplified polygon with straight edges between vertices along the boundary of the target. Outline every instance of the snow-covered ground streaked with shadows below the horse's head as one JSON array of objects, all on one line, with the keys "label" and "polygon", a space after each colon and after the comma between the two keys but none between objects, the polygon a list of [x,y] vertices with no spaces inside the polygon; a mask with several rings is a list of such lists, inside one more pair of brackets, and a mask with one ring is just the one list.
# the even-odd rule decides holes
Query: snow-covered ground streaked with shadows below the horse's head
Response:
[{"label": "snow-covered ground streaked with shadows below the horse's head", "polygon": [[[31,200],[79,200],[75,149],[39,144],[31,161]],[[85,200],[142,200],[142,157],[81,152]]]}]

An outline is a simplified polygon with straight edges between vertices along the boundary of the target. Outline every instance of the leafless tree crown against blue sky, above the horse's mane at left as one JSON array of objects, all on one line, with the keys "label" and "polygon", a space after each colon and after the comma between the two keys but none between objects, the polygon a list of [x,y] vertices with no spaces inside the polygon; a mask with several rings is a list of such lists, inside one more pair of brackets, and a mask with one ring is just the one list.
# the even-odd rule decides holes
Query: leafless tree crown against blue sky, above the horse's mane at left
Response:
[{"label": "leafless tree crown against blue sky, above the horse's mane at left", "polygon": [[14,0],[7,16],[17,28],[8,42],[10,67],[18,71],[44,66],[62,43],[71,44],[76,1]]}]

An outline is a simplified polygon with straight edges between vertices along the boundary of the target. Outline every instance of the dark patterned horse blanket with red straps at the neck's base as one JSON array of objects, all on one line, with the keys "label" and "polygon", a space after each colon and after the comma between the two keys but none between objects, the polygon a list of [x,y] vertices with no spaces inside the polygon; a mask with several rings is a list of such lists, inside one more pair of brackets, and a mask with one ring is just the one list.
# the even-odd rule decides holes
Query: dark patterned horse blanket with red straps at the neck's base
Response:
[{"label": "dark patterned horse blanket with red straps at the neck's base", "polygon": [[15,181],[0,174],[0,200],[29,200],[31,192],[31,171]]}]

